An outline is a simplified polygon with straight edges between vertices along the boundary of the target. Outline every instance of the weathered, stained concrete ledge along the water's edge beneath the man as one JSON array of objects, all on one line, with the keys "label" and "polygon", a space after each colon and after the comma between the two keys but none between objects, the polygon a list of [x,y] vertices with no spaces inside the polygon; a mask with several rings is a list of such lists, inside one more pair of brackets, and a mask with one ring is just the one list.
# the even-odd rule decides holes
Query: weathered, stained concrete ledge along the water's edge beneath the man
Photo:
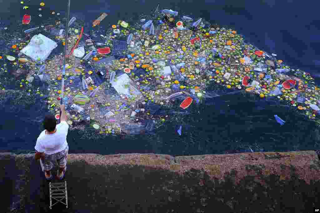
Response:
[{"label": "weathered, stained concrete ledge along the water's edge beneath the man", "polygon": [[[0,166],[4,212],[49,212],[48,183],[33,155],[0,153]],[[52,211],[309,212],[320,204],[319,179],[315,151],[69,154],[69,208]]]}]

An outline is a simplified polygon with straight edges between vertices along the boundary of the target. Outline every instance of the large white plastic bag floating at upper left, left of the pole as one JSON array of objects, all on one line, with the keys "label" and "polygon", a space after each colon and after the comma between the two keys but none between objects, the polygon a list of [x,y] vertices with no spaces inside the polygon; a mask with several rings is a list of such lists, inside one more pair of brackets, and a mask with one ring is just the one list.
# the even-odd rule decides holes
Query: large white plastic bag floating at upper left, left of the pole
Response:
[{"label": "large white plastic bag floating at upper left, left of the pole", "polygon": [[52,50],[57,46],[57,43],[50,38],[37,34],[31,38],[26,47],[21,49],[21,52],[31,57],[34,61],[42,62],[49,57]]}]

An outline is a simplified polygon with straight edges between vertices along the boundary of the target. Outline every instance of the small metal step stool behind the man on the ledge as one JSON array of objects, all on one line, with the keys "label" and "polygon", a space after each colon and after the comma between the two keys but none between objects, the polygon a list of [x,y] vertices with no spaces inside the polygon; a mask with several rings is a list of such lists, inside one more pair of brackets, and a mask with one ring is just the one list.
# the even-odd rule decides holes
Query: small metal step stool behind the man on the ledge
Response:
[{"label": "small metal step stool behind the man on the ledge", "polygon": [[[50,193],[50,209],[52,206],[57,203],[63,203],[67,206],[68,209],[68,193],[67,193],[67,181],[59,183],[49,183],[49,193]],[[52,199],[56,200],[52,204]],[[63,199],[66,199],[66,203],[62,202]]]}]

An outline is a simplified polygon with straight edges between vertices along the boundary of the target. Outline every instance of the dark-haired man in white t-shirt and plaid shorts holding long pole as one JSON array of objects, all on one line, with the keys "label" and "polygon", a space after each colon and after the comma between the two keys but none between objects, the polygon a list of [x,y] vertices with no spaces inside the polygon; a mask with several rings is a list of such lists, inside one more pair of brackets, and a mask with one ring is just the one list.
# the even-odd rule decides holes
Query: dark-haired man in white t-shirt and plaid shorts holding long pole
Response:
[{"label": "dark-haired man in white t-shirt and plaid shorts holding long pole", "polygon": [[44,118],[44,131],[42,131],[36,142],[35,159],[40,159],[42,171],[47,180],[52,179],[51,169],[53,164],[59,166],[57,179],[63,179],[67,169],[67,155],[69,146],[67,134],[69,125],[64,104],[60,105],[61,118],[57,125],[54,115],[46,115]]}]

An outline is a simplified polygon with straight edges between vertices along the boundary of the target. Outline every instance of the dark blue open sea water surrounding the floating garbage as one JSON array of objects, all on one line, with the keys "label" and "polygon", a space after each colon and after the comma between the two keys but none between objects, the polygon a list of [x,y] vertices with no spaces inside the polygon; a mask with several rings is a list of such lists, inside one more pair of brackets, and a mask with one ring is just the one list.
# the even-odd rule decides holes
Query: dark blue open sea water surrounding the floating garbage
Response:
[{"label": "dark blue open sea water surrounding the floating garbage", "polygon": [[[32,15],[26,30],[37,27],[50,17],[52,11],[66,17],[67,1],[24,1]],[[138,19],[156,9],[156,1],[75,1],[71,0],[70,17],[92,23],[101,12],[108,17],[100,24],[107,28],[119,19]],[[292,68],[297,67],[318,75],[320,66],[318,3],[316,1],[167,1],[159,2],[160,9],[172,9],[195,18],[203,17],[212,23],[236,29],[246,42],[269,53],[277,54]],[[26,13],[20,1],[2,1],[0,30],[8,34],[17,30]],[[43,16],[40,18],[38,14]],[[54,20],[54,19],[53,19]],[[97,30],[96,27],[94,30]],[[85,28],[85,32],[92,27]],[[98,34],[98,33],[97,33]],[[6,45],[0,39],[0,45]],[[317,84],[319,80],[317,79]],[[41,104],[26,106],[23,99],[0,107],[0,151],[33,152],[36,139],[43,130],[41,120],[46,109]],[[37,101],[36,101],[37,103]],[[176,103],[179,110],[180,103]],[[179,110],[181,112],[181,110]],[[251,151],[315,150],[320,148],[319,130],[315,122],[298,115],[277,100],[260,100],[241,93],[205,99],[188,108],[188,115],[166,122],[152,134],[96,136],[70,130],[67,141],[69,153],[159,153],[173,156],[221,154]],[[286,121],[280,126],[274,115]],[[182,135],[176,130],[182,125]]]}]

